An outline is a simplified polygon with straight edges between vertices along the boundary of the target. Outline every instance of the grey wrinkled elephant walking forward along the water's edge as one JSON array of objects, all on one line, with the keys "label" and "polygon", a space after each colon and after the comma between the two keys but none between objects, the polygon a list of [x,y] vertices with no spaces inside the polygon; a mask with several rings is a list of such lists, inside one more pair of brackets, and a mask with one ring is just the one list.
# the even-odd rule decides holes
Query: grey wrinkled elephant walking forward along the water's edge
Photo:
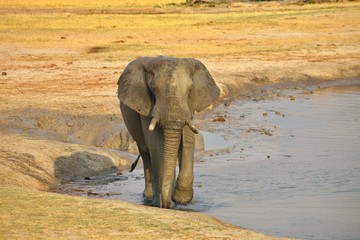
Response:
[{"label": "grey wrinkled elephant walking forward along the water's edge", "polygon": [[153,197],[154,205],[173,208],[173,201],[191,201],[194,133],[198,131],[193,115],[208,107],[219,93],[206,67],[196,59],[142,57],[121,74],[121,112],[143,159],[143,194]]}]

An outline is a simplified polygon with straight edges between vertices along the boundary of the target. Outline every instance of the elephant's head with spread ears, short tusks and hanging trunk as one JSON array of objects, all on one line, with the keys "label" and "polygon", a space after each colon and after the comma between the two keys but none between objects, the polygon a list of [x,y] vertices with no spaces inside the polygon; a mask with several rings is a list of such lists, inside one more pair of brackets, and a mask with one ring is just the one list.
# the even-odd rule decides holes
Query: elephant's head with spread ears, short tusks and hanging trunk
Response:
[{"label": "elephant's head with spread ears, short tusks and hanging trunk", "polygon": [[192,123],[195,111],[208,107],[219,89],[206,67],[196,59],[143,57],[131,62],[118,82],[122,103],[150,117],[149,130],[164,132],[164,172],[160,205],[170,207],[176,158],[185,126],[197,133]]}]

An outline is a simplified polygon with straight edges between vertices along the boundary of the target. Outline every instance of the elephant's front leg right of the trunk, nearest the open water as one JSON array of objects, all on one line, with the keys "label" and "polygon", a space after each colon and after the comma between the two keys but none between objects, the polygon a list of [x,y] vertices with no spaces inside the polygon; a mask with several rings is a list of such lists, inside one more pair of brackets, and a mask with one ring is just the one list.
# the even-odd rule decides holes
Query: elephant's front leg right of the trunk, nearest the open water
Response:
[{"label": "elephant's front leg right of the trunk, nearest the open water", "polygon": [[189,203],[194,194],[194,150],[195,135],[188,126],[185,126],[182,133],[182,150],[179,157],[179,176],[173,200],[180,204]]}]

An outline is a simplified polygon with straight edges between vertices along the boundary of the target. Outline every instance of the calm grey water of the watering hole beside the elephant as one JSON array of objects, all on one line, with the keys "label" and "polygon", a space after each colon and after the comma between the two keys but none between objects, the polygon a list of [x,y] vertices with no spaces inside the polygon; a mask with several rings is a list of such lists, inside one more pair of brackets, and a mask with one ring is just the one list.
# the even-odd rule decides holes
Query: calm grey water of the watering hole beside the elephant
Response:
[{"label": "calm grey water of the watering hole beside the elephant", "polygon": [[[178,209],[278,237],[360,239],[360,84],[238,101],[217,114],[226,121],[205,126],[194,199]],[[142,169],[121,177],[77,187],[143,203]]]}]

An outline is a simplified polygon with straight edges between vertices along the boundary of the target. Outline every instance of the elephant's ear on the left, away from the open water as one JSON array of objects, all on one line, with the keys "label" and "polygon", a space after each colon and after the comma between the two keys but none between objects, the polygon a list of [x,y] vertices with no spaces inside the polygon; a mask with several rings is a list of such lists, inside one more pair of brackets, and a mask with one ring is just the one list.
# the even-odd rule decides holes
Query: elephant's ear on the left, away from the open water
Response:
[{"label": "elephant's ear on the left, away from the open water", "polygon": [[118,81],[119,100],[140,113],[148,116],[151,111],[151,98],[145,82],[148,58],[138,58],[124,69]]}]

